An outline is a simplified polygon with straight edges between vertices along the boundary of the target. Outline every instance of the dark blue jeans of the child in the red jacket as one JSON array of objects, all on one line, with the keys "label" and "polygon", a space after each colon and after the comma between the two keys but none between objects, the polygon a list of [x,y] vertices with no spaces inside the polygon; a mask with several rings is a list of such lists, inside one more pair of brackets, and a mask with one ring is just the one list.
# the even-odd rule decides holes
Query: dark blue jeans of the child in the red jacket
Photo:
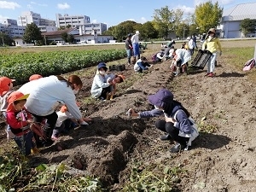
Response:
[{"label": "dark blue jeans of the child in the red jacket", "polygon": [[36,144],[32,141],[33,133],[32,131],[27,132],[23,136],[15,137],[15,143],[20,148],[20,152],[25,155],[31,154],[31,149],[36,147]]}]

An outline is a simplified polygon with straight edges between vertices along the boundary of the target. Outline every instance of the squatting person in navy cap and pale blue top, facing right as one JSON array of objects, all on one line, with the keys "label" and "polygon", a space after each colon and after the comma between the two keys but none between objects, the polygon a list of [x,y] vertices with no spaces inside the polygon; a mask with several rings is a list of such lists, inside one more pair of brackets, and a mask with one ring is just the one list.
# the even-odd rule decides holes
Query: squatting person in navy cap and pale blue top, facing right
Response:
[{"label": "squatting person in navy cap and pale blue top, facing right", "polygon": [[108,74],[106,73],[108,67],[106,63],[101,62],[97,66],[96,75],[93,79],[90,93],[96,99],[106,100],[110,96],[112,81],[108,82]]}]

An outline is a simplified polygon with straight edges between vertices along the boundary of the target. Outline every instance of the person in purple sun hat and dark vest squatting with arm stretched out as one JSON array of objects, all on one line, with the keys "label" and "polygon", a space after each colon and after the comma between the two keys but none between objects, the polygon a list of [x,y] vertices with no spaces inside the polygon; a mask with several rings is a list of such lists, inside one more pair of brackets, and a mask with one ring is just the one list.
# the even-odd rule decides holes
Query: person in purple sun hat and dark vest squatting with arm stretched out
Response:
[{"label": "person in purple sun hat and dark vest squatting with arm stretched out", "polygon": [[154,105],[151,111],[136,113],[132,108],[128,113],[137,118],[151,118],[165,115],[166,119],[158,119],[155,127],[167,134],[160,137],[161,140],[170,140],[176,142],[176,145],[170,149],[171,153],[177,153],[182,149],[188,149],[192,142],[199,135],[194,119],[182,103],[173,100],[173,94],[170,90],[161,89],[154,95],[148,96],[148,102]]}]

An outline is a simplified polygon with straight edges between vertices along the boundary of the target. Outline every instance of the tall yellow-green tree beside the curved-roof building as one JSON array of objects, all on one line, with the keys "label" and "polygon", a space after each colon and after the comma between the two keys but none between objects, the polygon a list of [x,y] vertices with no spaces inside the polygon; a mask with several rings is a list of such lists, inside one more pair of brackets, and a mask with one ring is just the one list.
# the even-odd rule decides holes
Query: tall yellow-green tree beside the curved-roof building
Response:
[{"label": "tall yellow-green tree beside the curved-roof building", "polygon": [[210,28],[216,28],[222,18],[223,8],[218,6],[218,1],[212,3],[200,3],[195,6],[195,23],[199,27],[199,31],[207,32]]}]

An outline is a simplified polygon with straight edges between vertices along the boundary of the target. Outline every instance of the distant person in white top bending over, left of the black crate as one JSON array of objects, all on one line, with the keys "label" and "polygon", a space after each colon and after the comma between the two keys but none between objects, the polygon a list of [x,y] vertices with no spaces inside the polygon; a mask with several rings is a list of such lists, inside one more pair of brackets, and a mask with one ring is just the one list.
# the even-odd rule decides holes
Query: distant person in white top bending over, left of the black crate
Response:
[{"label": "distant person in white top bending over, left of the black crate", "polygon": [[176,67],[177,71],[175,75],[179,73],[188,73],[188,61],[191,60],[191,55],[188,49],[174,49],[172,53],[173,65]]}]

